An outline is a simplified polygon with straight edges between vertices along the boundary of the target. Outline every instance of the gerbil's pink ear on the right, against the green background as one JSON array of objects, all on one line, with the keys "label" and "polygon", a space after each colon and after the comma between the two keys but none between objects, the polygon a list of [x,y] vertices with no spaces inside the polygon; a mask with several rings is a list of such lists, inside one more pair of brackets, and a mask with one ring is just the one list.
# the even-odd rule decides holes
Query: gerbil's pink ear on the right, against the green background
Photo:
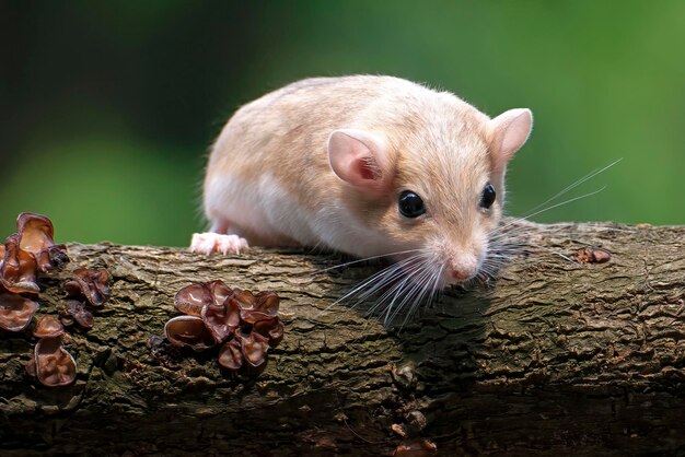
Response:
[{"label": "gerbil's pink ear on the right, against the green background", "polygon": [[527,108],[510,109],[490,120],[496,165],[502,166],[521,149],[533,129],[533,113]]}]

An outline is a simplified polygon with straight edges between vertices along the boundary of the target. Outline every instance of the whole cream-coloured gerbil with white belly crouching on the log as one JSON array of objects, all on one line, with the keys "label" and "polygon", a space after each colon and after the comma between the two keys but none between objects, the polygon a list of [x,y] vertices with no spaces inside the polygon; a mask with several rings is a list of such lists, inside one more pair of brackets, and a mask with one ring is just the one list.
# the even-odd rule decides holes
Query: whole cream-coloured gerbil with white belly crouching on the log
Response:
[{"label": "whole cream-coloured gerbil with white belly crouching on the log", "polygon": [[507,164],[532,122],[529,109],[490,119],[392,77],[287,85],[223,128],[205,178],[211,233],[191,250],[324,246],[390,255],[432,288],[466,281],[488,256]]}]

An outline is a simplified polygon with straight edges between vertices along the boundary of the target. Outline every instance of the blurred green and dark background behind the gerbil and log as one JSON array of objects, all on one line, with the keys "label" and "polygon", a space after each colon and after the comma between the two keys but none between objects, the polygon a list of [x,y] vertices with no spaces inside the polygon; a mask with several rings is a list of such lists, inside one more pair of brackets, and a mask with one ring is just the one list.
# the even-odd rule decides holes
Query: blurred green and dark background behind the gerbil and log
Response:
[{"label": "blurred green and dark background behind the gerbil and log", "polygon": [[0,234],[185,246],[207,149],[241,104],[310,75],[385,73],[534,133],[508,213],[685,223],[685,1],[0,0]]}]

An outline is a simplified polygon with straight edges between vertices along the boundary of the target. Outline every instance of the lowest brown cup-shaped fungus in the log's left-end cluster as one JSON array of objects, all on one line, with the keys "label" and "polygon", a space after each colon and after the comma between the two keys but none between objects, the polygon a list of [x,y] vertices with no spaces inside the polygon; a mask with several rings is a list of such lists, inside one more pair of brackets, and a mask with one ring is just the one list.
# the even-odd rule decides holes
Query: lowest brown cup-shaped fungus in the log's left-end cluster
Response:
[{"label": "lowest brown cup-shaped fungus in the log's left-end cluster", "polygon": [[61,344],[61,338],[40,338],[34,350],[35,372],[40,384],[67,386],[77,378],[77,362]]}]

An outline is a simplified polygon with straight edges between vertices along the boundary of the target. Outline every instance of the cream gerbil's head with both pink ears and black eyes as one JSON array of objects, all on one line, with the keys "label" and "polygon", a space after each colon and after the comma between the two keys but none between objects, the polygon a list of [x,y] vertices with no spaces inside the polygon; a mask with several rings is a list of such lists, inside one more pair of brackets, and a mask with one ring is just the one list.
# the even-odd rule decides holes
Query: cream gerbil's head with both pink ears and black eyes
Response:
[{"label": "cream gerbil's head with both pink ears and black eyes", "polygon": [[448,109],[405,114],[386,131],[336,130],[328,141],[334,173],[353,190],[348,210],[373,239],[373,249],[350,254],[394,254],[398,268],[432,290],[483,268],[502,215],[507,164],[533,125],[525,108],[494,119],[464,102]]}]

